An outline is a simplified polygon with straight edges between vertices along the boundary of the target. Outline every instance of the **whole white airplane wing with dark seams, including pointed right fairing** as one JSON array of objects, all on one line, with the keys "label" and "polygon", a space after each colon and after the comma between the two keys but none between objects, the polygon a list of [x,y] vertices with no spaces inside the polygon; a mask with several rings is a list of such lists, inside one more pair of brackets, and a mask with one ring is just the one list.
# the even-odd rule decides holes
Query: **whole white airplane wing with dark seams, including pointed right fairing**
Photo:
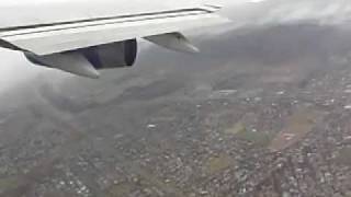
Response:
[{"label": "whole white airplane wing with dark seams, including pointed right fairing", "polygon": [[[196,51],[179,32],[228,22],[216,13],[219,5],[189,0],[1,3],[0,46],[25,51],[30,60],[39,65],[50,65],[43,62],[49,55],[60,54],[61,58],[63,53],[94,46],[104,46],[106,50],[107,44],[135,38],[176,50]],[[69,57],[77,59],[72,54]],[[88,58],[90,62],[92,59],[97,58]]]}]

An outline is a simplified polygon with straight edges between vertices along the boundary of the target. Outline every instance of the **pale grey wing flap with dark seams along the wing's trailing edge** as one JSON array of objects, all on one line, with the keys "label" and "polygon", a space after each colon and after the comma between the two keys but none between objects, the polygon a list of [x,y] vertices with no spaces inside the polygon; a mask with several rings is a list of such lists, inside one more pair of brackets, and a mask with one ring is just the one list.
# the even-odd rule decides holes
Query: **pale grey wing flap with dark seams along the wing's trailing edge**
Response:
[{"label": "pale grey wing flap with dark seams along the wing's trailing edge", "polygon": [[228,22],[214,7],[50,24],[0,32],[22,50],[48,55]]}]

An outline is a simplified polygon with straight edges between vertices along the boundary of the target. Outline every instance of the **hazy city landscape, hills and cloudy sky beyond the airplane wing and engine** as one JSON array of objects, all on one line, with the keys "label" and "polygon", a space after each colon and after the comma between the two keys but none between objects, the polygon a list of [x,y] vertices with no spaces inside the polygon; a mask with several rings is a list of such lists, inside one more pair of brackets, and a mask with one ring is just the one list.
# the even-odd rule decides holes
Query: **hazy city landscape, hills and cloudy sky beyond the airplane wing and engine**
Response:
[{"label": "hazy city landscape, hills and cloudy sky beyond the airplane wing and engine", "polygon": [[1,49],[0,196],[349,197],[351,3],[225,4],[98,80]]}]

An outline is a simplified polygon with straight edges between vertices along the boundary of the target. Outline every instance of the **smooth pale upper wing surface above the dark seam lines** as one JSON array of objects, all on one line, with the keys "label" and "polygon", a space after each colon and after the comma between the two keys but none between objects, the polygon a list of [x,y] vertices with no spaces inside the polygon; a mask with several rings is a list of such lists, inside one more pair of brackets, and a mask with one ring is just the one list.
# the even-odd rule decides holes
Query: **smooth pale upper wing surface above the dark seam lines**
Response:
[{"label": "smooth pale upper wing surface above the dark seam lines", "polygon": [[0,30],[191,9],[199,0],[1,0]]}]

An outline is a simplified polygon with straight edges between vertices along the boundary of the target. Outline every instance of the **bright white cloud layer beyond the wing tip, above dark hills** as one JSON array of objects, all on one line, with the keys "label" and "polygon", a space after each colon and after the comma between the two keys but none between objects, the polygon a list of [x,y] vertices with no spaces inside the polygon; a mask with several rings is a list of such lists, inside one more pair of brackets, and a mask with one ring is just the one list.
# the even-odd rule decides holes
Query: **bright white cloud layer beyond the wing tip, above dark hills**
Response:
[{"label": "bright white cloud layer beyond the wing tip, above dark hills", "polygon": [[288,23],[341,25],[351,20],[351,3],[346,0],[263,0],[228,2],[223,11],[234,27]]}]

